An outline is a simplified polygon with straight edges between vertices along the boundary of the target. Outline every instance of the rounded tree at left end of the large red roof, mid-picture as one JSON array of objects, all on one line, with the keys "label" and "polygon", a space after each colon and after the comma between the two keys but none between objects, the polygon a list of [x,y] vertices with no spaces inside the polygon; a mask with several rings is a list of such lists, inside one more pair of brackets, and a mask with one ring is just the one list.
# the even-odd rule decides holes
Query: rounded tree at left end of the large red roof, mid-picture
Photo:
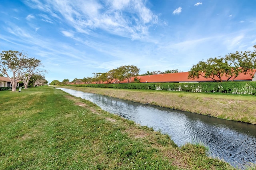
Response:
[{"label": "rounded tree at left end of the large red roof, mid-picture", "polygon": [[140,69],[134,65],[124,65],[119,67],[120,73],[127,83],[131,83],[132,77],[137,76]]}]

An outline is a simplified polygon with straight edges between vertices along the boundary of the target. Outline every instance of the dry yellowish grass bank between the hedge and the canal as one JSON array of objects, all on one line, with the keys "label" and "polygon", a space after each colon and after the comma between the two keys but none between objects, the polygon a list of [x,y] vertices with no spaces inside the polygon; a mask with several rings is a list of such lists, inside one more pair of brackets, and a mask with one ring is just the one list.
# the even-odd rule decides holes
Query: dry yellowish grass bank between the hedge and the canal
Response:
[{"label": "dry yellowish grass bank between the hedge and the canal", "polygon": [[256,96],[69,86],[64,88],[256,124]]}]

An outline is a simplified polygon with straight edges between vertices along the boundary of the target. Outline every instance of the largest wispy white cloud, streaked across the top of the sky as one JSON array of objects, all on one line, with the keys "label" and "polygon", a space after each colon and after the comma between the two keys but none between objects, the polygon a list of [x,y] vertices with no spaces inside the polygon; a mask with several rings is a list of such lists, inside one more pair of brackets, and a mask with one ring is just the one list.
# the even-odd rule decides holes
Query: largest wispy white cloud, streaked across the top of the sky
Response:
[{"label": "largest wispy white cloud, streaked across the top of the sky", "polygon": [[[43,4],[38,0],[33,2],[27,4],[47,12],[50,14],[48,17],[61,16],[76,31],[85,34],[89,34],[90,30],[102,29],[109,34],[136,40],[148,36],[149,28],[158,24],[158,16],[142,0],[103,0],[104,6],[94,0],[45,0]],[[44,18],[44,21],[52,22],[48,18]]]}]

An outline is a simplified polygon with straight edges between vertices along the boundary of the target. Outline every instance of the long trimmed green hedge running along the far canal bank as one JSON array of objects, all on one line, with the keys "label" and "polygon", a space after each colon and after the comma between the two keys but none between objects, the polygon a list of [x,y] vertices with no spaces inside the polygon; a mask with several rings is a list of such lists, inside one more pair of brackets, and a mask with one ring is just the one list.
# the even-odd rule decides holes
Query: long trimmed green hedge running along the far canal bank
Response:
[{"label": "long trimmed green hedge running along the far canal bank", "polygon": [[232,93],[256,95],[256,82],[223,82],[223,83],[124,83],[124,84],[79,84],[78,87],[100,87],[116,89],[150,89],[166,91],[186,91],[205,93]]}]

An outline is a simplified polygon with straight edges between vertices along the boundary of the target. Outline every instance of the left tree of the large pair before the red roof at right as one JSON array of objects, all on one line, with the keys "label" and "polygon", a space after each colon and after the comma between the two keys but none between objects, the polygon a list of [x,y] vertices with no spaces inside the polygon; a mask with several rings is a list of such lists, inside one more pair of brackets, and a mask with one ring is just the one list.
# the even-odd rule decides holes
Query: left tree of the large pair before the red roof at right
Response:
[{"label": "left tree of the large pair before the red roof at right", "polygon": [[201,75],[202,77],[213,79],[216,82],[222,82],[222,76],[229,69],[228,63],[224,61],[224,58],[209,58],[206,61],[200,61],[198,64],[193,65],[190,71],[188,71],[188,78],[199,78],[199,75]]}]

